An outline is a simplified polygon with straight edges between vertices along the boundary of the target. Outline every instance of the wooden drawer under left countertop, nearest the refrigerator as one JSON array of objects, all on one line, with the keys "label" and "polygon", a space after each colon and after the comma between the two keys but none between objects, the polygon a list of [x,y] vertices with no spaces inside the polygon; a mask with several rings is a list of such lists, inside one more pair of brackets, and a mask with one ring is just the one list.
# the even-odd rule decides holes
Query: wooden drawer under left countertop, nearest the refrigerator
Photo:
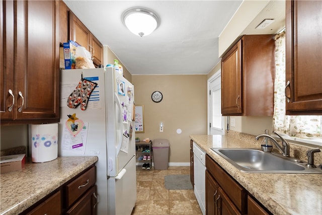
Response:
[{"label": "wooden drawer under left countertop, nearest the refrigerator", "polygon": [[95,184],[95,167],[66,185],[66,200],[69,207],[79,196]]}]

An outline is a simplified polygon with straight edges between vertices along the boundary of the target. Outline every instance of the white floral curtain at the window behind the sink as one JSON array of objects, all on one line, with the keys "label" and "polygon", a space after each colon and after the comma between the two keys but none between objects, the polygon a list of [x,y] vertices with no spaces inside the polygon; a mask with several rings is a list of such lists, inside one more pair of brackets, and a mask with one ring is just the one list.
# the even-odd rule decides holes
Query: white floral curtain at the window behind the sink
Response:
[{"label": "white floral curtain at the window behind the sink", "polygon": [[275,37],[274,130],[296,137],[320,137],[322,116],[285,114],[285,32]]}]

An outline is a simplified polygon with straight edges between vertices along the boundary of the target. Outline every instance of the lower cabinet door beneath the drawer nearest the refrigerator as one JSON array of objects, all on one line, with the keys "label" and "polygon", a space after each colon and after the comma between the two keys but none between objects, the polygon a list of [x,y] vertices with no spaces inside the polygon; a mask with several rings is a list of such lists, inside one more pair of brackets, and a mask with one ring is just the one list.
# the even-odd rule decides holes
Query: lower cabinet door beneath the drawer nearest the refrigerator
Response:
[{"label": "lower cabinet door beneath the drawer nearest the refrigerator", "polygon": [[97,213],[96,186],[93,186],[67,212],[67,215],[94,215]]}]

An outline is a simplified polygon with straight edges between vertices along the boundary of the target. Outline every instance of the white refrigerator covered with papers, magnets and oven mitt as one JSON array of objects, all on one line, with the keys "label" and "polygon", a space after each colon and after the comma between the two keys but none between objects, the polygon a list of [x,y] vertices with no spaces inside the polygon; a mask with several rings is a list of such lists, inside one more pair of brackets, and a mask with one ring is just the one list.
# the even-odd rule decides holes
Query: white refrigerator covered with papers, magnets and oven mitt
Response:
[{"label": "white refrigerator covered with papers, magnets and oven mitt", "polygon": [[134,86],[114,68],[62,69],[60,90],[59,156],[97,156],[97,214],[131,214],[136,201]]}]

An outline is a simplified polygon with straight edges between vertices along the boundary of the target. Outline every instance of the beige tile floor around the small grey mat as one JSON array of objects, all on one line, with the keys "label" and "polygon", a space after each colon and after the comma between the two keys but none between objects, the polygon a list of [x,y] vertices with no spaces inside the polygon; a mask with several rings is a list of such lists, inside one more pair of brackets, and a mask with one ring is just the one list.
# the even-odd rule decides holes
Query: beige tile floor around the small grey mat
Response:
[{"label": "beige tile floor around the small grey mat", "polygon": [[201,215],[193,190],[168,190],[165,175],[190,174],[190,167],[169,167],[168,170],[136,168],[137,200],[132,215],[136,214],[194,214]]}]

